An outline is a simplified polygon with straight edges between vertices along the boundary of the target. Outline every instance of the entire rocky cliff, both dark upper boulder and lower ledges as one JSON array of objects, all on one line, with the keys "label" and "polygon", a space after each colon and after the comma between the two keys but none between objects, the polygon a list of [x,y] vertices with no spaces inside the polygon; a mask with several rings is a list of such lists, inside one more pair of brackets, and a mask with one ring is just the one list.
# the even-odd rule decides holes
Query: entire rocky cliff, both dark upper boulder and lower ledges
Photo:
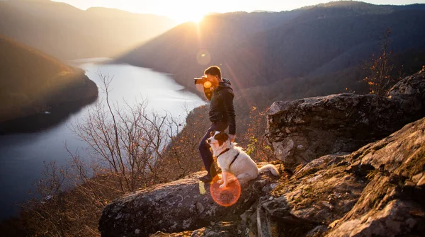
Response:
[{"label": "entire rocky cliff, both dark upper boulder and lower ledges", "polygon": [[[288,127],[290,132],[282,127],[281,133],[295,133],[295,120],[300,127],[322,124],[326,126],[319,129],[334,132],[329,137],[305,132],[308,141],[315,138],[324,145],[317,146],[319,155],[311,149],[313,155],[293,173],[283,172],[279,180],[261,174],[242,187],[239,199],[229,207],[217,203],[232,195],[217,190],[216,183],[199,183],[197,177],[202,173],[196,173],[108,204],[99,230],[102,236],[425,236],[425,118],[391,133],[402,121],[421,116],[424,81],[424,71],[408,77],[392,89],[389,98],[342,94],[285,103],[298,108],[295,111],[300,115],[285,112],[293,126]],[[351,101],[351,110],[342,106],[344,101]],[[324,108],[319,110],[319,105]],[[307,110],[302,107],[309,106],[308,111],[321,111],[322,115],[316,113],[307,120],[307,113],[302,113]],[[370,111],[378,114],[368,114]],[[332,117],[334,113],[339,116]],[[273,115],[271,112],[269,118]],[[361,123],[362,119],[371,121],[370,125]],[[269,126],[277,127],[274,122],[269,120]],[[363,137],[353,135],[354,125],[367,125],[361,129]],[[339,141],[343,134],[351,137]],[[367,144],[373,137],[383,138]],[[340,146],[347,144],[347,150],[366,144],[353,152],[330,154],[330,139]],[[305,150],[309,148],[305,146]]]}]

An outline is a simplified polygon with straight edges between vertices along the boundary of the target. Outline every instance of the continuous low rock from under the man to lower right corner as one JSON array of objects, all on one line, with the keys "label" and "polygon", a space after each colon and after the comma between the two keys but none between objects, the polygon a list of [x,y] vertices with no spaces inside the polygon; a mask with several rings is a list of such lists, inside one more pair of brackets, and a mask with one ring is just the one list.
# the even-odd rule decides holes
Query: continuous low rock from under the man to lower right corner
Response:
[{"label": "continuous low rock from under the man to lower right corner", "polygon": [[352,154],[317,158],[288,180],[262,175],[232,207],[216,204],[208,185],[201,195],[196,176],[203,173],[196,173],[115,200],[99,230],[102,236],[423,236],[424,131],[425,118]]}]

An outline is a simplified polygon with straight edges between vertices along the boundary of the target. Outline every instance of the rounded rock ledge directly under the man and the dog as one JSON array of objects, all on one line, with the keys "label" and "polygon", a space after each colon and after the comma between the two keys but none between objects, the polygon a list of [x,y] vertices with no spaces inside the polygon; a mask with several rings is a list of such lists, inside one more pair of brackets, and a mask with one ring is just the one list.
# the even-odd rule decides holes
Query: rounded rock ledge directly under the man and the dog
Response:
[{"label": "rounded rock ledge directly under the man and the dog", "polygon": [[[108,204],[99,219],[101,236],[148,236],[157,231],[174,233],[200,229],[212,222],[237,220],[258,200],[264,187],[276,183],[266,174],[260,175],[242,187],[235,204],[223,207],[212,200],[210,185],[198,180],[203,174],[205,171],[192,178],[133,192]],[[217,183],[212,185],[218,187]],[[220,191],[217,195],[219,198],[227,196],[228,191]]]}]

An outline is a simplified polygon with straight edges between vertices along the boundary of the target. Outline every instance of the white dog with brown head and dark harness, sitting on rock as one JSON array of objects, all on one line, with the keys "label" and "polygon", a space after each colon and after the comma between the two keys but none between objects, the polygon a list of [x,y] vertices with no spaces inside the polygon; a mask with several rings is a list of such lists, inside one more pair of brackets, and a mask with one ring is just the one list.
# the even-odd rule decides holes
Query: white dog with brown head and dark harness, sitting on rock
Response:
[{"label": "white dog with brown head and dark harness, sitting on rock", "polygon": [[279,171],[271,164],[257,168],[256,163],[248,156],[242,148],[235,146],[229,141],[229,135],[225,132],[215,132],[207,139],[212,152],[217,157],[218,166],[222,169],[222,179],[218,181],[220,188],[224,188],[228,183],[234,182],[234,178],[228,178],[227,173],[232,173],[239,183],[246,183],[257,178],[259,173],[269,170],[273,175],[278,176]]}]

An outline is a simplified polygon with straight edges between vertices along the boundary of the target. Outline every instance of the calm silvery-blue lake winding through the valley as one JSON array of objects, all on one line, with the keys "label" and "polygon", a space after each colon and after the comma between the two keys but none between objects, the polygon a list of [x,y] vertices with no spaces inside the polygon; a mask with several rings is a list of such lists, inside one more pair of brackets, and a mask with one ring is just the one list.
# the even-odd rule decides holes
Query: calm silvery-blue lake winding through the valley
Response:
[{"label": "calm silvery-blue lake winding through the valley", "polygon": [[[149,110],[170,112],[184,122],[187,109],[192,110],[205,104],[196,94],[185,91],[169,75],[127,64],[96,64],[100,61],[102,59],[72,62],[86,70],[89,79],[96,82],[99,87],[98,100],[105,98],[98,76],[101,72],[113,76],[109,98],[118,105],[122,105],[123,100],[135,105],[145,99],[149,102]],[[32,184],[41,178],[43,161],[67,163],[70,155],[64,149],[65,142],[70,151],[86,148],[86,144],[78,139],[71,127],[83,121],[87,109],[92,106],[94,104],[87,105],[59,125],[41,132],[0,136],[0,219],[18,214],[19,207],[14,203],[28,200],[28,191],[34,188]]]}]

